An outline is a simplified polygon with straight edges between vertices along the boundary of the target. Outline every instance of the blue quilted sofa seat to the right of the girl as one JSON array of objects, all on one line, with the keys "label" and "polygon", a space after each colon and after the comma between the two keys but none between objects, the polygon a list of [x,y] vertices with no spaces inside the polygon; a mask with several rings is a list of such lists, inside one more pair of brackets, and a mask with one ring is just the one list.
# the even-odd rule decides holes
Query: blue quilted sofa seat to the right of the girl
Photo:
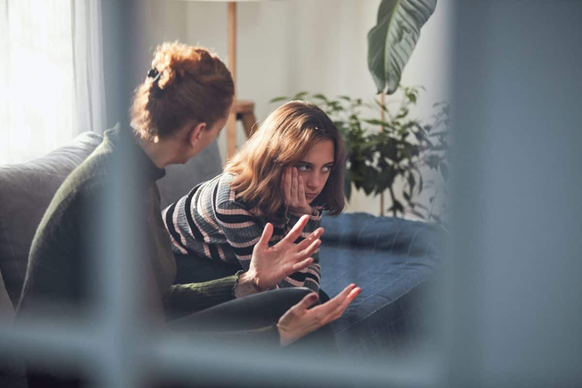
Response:
[{"label": "blue quilted sofa seat to the right of the girl", "polygon": [[321,287],[333,296],[362,287],[332,323],[342,353],[377,355],[398,348],[423,326],[420,306],[442,263],[446,233],[435,225],[366,213],[324,216]]}]

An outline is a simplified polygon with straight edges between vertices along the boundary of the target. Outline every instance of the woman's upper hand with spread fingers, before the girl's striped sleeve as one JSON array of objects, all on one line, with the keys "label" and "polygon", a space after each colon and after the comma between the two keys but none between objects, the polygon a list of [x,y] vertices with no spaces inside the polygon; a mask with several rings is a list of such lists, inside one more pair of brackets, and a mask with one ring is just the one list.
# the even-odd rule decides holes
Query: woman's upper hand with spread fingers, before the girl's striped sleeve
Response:
[{"label": "woman's upper hand with spread fingers, before the girl's striped sleeve", "polygon": [[[286,276],[306,268],[313,262],[313,255],[321,245],[320,237],[324,233],[322,227],[314,230],[307,239],[294,244],[297,237],[307,225],[309,216],[301,216],[293,229],[272,247],[268,243],[273,236],[273,226],[268,223],[262,232],[261,239],[253,249],[253,257],[249,270],[239,277],[239,284],[251,283],[255,291],[264,291],[281,283]],[[244,296],[243,289],[237,297]]]}]

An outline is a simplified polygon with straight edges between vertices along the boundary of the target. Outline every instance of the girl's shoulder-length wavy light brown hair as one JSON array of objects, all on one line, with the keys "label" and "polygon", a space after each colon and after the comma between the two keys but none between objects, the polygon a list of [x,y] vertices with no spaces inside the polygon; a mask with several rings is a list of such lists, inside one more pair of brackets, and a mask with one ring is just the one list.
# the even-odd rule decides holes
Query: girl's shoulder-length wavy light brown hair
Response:
[{"label": "girl's shoulder-length wavy light brown hair", "polygon": [[290,101],[272,112],[225,166],[234,177],[236,197],[249,204],[257,216],[272,218],[283,207],[281,177],[288,166],[303,159],[311,145],[333,142],[333,168],[314,204],[331,215],[343,211],[343,176],[346,151],[335,124],[320,108]]}]

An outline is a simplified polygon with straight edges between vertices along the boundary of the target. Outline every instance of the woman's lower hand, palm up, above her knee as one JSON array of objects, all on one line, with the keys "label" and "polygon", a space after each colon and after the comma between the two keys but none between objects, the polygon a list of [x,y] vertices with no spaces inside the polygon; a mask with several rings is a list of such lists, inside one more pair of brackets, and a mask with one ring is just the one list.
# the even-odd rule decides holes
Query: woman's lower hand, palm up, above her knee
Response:
[{"label": "woman's lower hand, palm up, above her knee", "polygon": [[316,293],[308,294],[279,319],[277,328],[281,336],[281,345],[286,346],[338,319],[360,292],[360,287],[350,284],[328,302],[311,309],[309,307],[319,296]]}]

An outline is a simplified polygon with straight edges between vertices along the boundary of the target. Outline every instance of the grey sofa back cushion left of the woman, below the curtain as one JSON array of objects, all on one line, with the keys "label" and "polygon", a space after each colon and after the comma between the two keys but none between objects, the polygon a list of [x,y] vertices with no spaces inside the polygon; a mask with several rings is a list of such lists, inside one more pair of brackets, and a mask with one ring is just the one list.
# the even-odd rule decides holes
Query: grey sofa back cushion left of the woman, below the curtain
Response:
[{"label": "grey sofa back cushion left of the woman, below the curtain", "polygon": [[30,244],[52,196],[99,143],[101,136],[85,132],[41,158],[0,166],[0,270],[13,305],[20,297]]}]

